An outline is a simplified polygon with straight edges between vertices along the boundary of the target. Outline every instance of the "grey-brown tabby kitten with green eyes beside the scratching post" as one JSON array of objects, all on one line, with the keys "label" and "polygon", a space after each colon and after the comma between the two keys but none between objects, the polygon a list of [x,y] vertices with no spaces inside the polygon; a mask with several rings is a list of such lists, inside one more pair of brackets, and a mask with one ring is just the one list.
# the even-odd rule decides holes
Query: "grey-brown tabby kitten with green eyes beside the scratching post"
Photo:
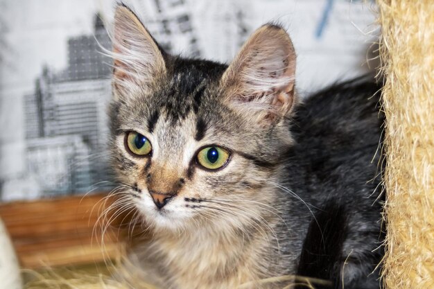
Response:
[{"label": "grey-brown tabby kitten with green eyes beside the scratching post", "polygon": [[132,249],[141,277],[162,289],[281,288],[259,280],[288,274],[379,288],[379,87],[361,78],[301,104],[293,44],[273,24],[229,66],[169,55],[125,6],[113,41],[112,164],[152,236]]}]

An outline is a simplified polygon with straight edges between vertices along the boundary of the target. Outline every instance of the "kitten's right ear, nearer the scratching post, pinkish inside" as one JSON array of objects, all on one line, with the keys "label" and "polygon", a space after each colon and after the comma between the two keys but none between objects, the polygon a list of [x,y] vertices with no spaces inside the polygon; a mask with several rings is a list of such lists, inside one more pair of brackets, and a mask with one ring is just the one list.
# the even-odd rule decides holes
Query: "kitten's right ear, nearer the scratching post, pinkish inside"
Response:
[{"label": "kitten's right ear, nearer the scratching post, pinkish inside", "polygon": [[221,79],[226,101],[268,120],[294,104],[295,50],[288,33],[267,24],[256,30]]}]

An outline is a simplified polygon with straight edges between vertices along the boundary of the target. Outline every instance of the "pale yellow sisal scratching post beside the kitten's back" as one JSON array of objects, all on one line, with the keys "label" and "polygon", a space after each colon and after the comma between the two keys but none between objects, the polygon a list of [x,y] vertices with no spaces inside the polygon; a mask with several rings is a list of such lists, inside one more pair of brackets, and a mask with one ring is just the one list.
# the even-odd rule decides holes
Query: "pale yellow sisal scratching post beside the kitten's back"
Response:
[{"label": "pale yellow sisal scratching post beside the kitten's back", "polygon": [[390,289],[434,288],[434,2],[377,0]]}]

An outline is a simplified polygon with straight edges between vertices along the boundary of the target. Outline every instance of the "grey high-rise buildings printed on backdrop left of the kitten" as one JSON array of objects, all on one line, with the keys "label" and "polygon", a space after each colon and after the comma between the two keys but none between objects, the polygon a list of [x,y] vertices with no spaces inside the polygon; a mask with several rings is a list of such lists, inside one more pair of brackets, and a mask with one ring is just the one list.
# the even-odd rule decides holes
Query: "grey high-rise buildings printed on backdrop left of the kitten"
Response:
[{"label": "grey high-rise buildings printed on backdrop left of the kitten", "polygon": [[107,102],[111,96],[110,37],[99,17],[94,35],[68,42],[67,69],[44,68],[25,96],[28,173],[41,194],[89,191],[107,177]]}]

